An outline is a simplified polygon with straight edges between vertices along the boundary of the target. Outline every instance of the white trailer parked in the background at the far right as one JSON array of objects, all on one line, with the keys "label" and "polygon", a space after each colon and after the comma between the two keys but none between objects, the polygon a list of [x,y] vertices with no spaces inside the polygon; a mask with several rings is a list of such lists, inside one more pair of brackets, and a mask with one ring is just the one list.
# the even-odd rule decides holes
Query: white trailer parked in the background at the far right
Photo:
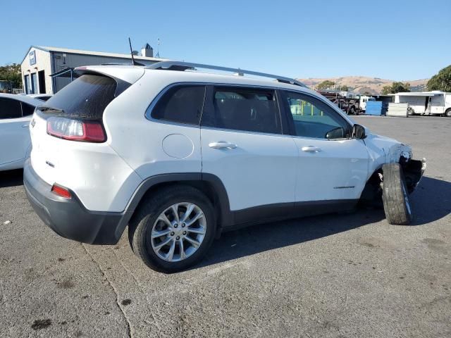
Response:
[{"label": "white trailer parked in the background at the far right", "polygon": [[396,104],[409,104],[414,114],[443,115],[451,117],[451,93],[407,92],[395,94]]}]

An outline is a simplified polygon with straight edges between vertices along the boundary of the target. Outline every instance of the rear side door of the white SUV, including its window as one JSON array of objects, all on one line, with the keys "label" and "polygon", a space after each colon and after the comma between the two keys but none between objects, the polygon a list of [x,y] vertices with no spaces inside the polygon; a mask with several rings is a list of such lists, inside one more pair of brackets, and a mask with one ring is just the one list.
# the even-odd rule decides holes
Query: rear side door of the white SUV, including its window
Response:
[{"label": "rear side door of the white SUV, including its window", "polygon": [[292,210],[297,149],[283,134],[276,90],[208,86],[201,142],[202,173],[223,182],[235,223]]}]

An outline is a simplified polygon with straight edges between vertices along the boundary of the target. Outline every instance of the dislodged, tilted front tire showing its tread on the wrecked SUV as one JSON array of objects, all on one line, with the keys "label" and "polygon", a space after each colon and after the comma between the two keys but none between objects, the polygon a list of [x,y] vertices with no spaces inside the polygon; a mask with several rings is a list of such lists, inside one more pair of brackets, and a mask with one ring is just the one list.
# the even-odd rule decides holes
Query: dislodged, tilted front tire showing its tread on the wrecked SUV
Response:
[{"label": "dislodged, tilted front tire showing its tread on the wrecked SUV", "polygon": [[393,225],[409,225],[412,222],[412,208],[401,165],[399,163],[384,164],[382,171],[385,218]]}]

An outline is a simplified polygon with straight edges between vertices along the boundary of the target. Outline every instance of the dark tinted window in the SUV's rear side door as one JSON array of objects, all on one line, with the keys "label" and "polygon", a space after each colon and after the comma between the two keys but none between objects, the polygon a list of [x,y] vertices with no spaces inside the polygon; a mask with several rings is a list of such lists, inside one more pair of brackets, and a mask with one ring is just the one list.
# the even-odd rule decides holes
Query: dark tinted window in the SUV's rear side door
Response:
[{"label": "dark tinted window in the SUV's rear side door", "polygon": [[202,125],[231,130],[281,134],[276,93],[271,89],[215,87],[213,108]]}]

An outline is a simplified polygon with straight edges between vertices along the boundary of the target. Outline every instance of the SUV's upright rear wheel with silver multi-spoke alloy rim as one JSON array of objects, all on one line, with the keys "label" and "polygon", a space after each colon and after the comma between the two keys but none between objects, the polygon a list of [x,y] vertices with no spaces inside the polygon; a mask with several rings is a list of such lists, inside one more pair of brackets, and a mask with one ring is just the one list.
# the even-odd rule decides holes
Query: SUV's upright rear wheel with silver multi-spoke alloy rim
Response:
[{"label": "SUV's upright rear wheel with silver multi-spoke alloy rim", "polygon": [[[175,218],[173,206],[177,208],[179,220]],[[184,212],[188,213],[191,206],[185,224]],[[194,222],[188,225],[192,220]],[[211,202],[198,189],[183,185],[163,188],[147,197],[128,228],[132,250],[149,268],[161,273],[175,273],[199,263],[210,248],[215,233],[216,220]],[[161,235],[155,236],[158,234]],[[200,244],[194,245],[192,241]],[[161,248],[157,249],[158,246]]]}]

